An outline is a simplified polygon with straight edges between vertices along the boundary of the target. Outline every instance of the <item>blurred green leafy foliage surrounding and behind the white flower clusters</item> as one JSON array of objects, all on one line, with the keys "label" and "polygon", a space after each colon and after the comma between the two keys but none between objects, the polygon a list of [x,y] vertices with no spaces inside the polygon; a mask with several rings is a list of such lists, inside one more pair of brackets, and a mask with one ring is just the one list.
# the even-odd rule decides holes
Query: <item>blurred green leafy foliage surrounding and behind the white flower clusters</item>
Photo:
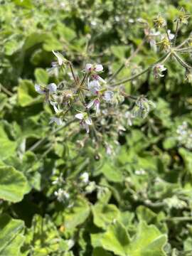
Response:
[{"label": "blurred green leafy foliage surrounding and behind the white flower clusters", "polygon": [[[77,124],[51,135],[51,110],[34,90],[35,82],[58,82],[48,75],[52,50],[82,70],[102,63],[104,77],[117,70],[144,38],[138,18],[153,26],[172,22],[190,0],[0,1],[0,255],[192,255],[192,152],[179,146],[176,129],[191,121],[191,84],[174,60],[161,80],[150,73],[125,89],[156,102],[147,119],[119,134],[113,156],[83,149]],[[191,33],[183,26],[178,43]],[[159,58],[146,43],[117,77]],[[187,57],[188,58],[188,57]],[[188,63],[191,60],[188,58]],[[28,150],[38,139],[45,142]],[[68,139],[70,138],[70,139]],[[113,138],[111,138],[113,140]],[[99,188],[78,189],[87,171]],[[63,174],[73,198],[68,208],[54,196],[53,181]]]}]

